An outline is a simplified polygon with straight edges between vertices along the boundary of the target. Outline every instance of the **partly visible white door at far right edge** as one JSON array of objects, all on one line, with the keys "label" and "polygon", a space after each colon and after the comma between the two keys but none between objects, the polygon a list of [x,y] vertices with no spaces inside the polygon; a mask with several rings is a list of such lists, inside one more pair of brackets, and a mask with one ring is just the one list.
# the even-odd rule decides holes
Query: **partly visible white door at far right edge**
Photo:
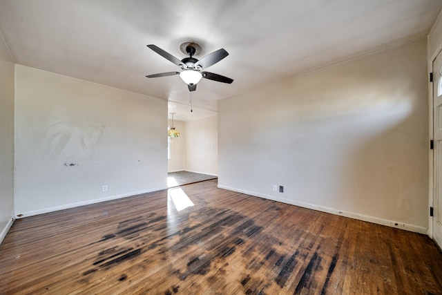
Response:
[{"label": "partly visible white door at far right edge", "polygon": [[442,51],[433,61],[433,238],[442,248]]}]

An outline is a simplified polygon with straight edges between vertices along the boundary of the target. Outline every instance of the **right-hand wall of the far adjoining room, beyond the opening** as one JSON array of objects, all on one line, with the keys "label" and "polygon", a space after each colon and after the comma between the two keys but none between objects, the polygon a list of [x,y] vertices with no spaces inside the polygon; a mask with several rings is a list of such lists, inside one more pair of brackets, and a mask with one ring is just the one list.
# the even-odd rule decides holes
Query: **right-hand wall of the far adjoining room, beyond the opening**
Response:
[{"label": "right-hand wall of the far adjoining room, beyond the opening", "polygon": [[218,115],[186,122],[185,170],[218,175]]}]

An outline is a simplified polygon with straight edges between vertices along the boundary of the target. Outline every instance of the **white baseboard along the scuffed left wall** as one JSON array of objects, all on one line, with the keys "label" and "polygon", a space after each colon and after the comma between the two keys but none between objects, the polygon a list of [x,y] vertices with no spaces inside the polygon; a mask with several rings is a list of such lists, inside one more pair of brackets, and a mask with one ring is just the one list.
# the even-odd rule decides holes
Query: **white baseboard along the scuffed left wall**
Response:
[{"label": "white baseboard along the scuffed left wall", "polygon": [[44,208],[44,209],[38,209],[38,210],[32,210],[32,211],[25,211],[25,212],[17,213],[15,218],[24,218],[24,217],[35,216],[35,215],[44,214],[44,213],[50,213],[50,212],[54,212],[54,211],[60,211],[60,210],[64,210],[64,209],[80,207],[80,206],[84,206],[84,205],[88,205],[88,204],[95,204],[95,203],[99,203],[99,202],[106,202],[106,201],[110,201],[110,200],[127,198],[127,197],[131,197],[131,196],[140,195],[142,193],[151,193],[153,191],[161,191],[162,189],[167,189],[167,187],[157,188],[157,189],[148,189],[148,190],[145,190],[145,191],[133,191],[131,193],[123,193],[121,195],[107,196],[107,197],[104,197],[104,198],[93,199],[93,200],[86,200],[86,201],[83,201],[83,202],[76,202],[76,203],[64,204],[64,205],[50,207],[50,208]]}]

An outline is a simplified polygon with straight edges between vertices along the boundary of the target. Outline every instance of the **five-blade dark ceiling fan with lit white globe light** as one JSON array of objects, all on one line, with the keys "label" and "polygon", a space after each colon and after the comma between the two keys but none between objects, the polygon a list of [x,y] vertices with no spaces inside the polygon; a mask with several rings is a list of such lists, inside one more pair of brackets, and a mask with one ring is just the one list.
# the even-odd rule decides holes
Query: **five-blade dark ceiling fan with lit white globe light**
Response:
[{"label": "five-blade dark ceiling fan with lit white globe light", "polygon": [[166,72],[155,75],[147,75],[146,77],[148,78],[180,75],[181,79],[189,87],[189,91],[196,90],[196,84],[200,82],[201,78],[206,78],[216,82],[228,84],[231,84],[233,82],[233,79],[215,73],[206,72],[204,70],[206,68],[209,68],[209,66],[213,66],[213,64],[216,64],[218,61],[224,59],[224,57],[227,57],[227,55],[229,55],[229,53],[227,53],[224,48],[213,51],[213,53],[209,53],[209,55],[206,55],[205,57],[202,57],[202,59],[198,60],[195,59],[193,55],[198,55],[199,53],[201,53],[201,47],[193,42],[186,42],[181,44],[180,49],[182,53],[188,54],[189,57],[184,57],[184,59],[180,60],[153,44],[148,45],[147,47],[151,48],[153,51],[155,51],[155,53],[158,53],[159,55],[173,62],[173,64],[176,64],[182,69],[181,72]]}]

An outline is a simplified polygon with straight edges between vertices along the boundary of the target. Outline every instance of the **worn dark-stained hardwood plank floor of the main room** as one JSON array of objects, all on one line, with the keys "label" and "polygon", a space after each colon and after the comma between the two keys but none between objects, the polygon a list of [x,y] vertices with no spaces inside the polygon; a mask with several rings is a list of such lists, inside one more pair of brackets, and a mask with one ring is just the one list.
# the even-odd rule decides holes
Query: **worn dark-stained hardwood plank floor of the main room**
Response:
[{"label": "worn dark-stained hardwood plank floor of the main room", "polygon": [[427,236],[216,185],[16,220],[0,294],[442,294]]}]

